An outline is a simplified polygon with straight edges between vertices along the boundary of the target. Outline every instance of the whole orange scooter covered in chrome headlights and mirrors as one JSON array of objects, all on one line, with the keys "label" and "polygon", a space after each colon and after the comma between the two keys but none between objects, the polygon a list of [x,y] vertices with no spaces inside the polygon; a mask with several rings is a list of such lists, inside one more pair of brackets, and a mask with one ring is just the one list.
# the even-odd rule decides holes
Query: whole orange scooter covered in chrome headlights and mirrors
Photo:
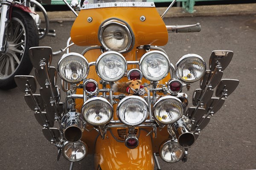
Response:
[{"label": "whole orange scooter covered in chrome headlights and mirrors", "polygon": [[[40,94],[33,76],[15,76],[15,82],[44,136],[57,147],[57,160],[62,153],[70,169],[87,154],[94,155],[97,170],[154,169],[154,164],[160,169],[157,156],[167,163],[186,162],[210,115],[238,86],[239,80],[221,79],[232,51],[212,51],[207,70],[197,54],[173,65],[158,47],[167,44],[168,33],[201,31],[199,23],[165,25],[163,17],[175,1],[162,16],[150,0],[73,2],[81,11],[57,69],[51,66],[52,48],[29,49]],[[70,52],[73,45],[90,47],[78,54]],[[200,88],[189,107],[183,88],[196,81]]]}]

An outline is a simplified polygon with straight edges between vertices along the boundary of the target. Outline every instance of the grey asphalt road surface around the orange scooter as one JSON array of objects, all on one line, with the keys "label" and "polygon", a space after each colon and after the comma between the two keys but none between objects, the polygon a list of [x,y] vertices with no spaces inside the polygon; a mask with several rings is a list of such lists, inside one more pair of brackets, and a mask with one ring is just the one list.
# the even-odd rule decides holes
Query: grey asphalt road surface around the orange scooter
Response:
[{"label": "grey asphalt road surface around the orange scooter", "polygon": [[[158,158],[162,169],[256,169],[255,16],[166,18],[164,21],[166,25],[199,22],[202,26],[199,33],[169,34],[169,42],[163,49],[173,64],[188,53],[198,54],[208,63],[213,50],[231,50],[234,51],[233,60],[223,78],[239,79],[240,84],[189,148],[188,161],[168,164]],[[72,23],[50,23],[50,26],[56,30],[57,37],[46,37],[40,45],[51,46],[53,51],[64,48]],[[83,49],[72,48],[72,51]],[[61,55],[53,57],[52,66],[56,67]],[[199,88],[198,82],[188,93],[190,99],[195,88]],[[18,88],[0,91],[0,169],[69,169],[70,162],[63,157],[56,161],[57,149],[44,138],[23,96]],[[75,163],[74,169],[93,169],[93,156]]]}]

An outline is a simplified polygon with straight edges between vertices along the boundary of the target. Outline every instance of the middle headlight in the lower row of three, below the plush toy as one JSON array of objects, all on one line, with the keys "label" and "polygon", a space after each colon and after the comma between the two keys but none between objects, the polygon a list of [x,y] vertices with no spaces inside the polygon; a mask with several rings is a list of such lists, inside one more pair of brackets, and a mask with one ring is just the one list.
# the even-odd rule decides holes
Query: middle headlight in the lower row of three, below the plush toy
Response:
[{"label": "middle headlight in the lower row of three, below the plush toy", "polygon": [[139,96],[128,96],[122,99],[116,109],[121,122],[128,126],[142,124],[148,116],[148,104]]}]

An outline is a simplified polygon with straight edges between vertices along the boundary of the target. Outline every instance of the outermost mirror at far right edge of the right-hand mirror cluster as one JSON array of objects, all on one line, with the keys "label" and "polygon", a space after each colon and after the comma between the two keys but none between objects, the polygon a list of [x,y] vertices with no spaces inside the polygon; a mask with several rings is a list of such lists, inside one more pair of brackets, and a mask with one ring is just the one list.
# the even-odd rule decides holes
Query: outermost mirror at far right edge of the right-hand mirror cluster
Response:
[{"label": "outermost mirror at far right edge of the right-hand mirror cluster", "polygon": [[215,92],[216,97],[227,97],[237,88],[239,80],[237,79],[222,79],[218,84]]}]

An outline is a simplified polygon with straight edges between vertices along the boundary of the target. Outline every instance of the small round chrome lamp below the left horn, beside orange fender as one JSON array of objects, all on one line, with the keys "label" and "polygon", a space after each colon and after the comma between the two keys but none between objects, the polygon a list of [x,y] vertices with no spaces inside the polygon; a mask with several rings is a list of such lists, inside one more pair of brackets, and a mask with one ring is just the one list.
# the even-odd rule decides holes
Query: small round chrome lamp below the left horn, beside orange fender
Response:
[{"label": "small round chrome lamp below the left horn, beside orange fender", "polygon": [[76,143],[65,142],[62,147],[62,155],[69,161],[76,162],[85,158],[88,153],[87,144],[82,141]]}]

